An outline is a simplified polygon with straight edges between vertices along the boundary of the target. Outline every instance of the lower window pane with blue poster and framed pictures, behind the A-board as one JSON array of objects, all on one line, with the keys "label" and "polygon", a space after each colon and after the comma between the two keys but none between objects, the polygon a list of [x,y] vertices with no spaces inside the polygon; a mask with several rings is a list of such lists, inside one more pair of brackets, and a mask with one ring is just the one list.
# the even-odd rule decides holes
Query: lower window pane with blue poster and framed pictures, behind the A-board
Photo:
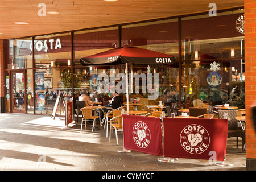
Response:
[{"label": "lower window pane with blue poster and framed pictures, behind the A-board", "polygon": [[[51,69],[51,75],[48,74]],[[35,71],[35,113],[52,114],[58,94],[64,102],[72,98],[72,75],[70,68],[36,69]],[[59,102],[57,114],[64,113],[63,102]]]}]

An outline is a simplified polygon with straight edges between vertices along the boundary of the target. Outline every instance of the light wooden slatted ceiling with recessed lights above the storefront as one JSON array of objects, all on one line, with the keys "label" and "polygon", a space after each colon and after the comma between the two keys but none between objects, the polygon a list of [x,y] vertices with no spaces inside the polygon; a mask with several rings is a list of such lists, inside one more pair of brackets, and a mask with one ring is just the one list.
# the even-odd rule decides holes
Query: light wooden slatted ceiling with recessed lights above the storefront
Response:
[{"label": "light wooden slatted ceiling with recessed lights above the storefront", "polygon": [[[59,11],[39,17],[39,3],[46,11]],[[42,35],[82,28],[163,18],[209,10],[212,0],[1,0],[0,39]],[[243,6],[243,0],[216,0],[217,9]],[[106,15],[109,14],[109,15]],[[13,22],[28,22],[16,25]]]}]

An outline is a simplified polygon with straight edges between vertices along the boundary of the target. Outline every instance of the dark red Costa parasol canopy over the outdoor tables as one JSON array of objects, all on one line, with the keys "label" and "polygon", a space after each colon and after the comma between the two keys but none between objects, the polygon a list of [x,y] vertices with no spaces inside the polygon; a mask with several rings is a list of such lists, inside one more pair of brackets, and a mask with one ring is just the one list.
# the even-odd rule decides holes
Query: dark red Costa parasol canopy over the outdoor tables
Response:
[{"label": "dark red Costa parasol canopy over the outdoor tables", "polygon": [[123,46],[80,59],[82,65],[172,64],[174,56],[133,46]]}]

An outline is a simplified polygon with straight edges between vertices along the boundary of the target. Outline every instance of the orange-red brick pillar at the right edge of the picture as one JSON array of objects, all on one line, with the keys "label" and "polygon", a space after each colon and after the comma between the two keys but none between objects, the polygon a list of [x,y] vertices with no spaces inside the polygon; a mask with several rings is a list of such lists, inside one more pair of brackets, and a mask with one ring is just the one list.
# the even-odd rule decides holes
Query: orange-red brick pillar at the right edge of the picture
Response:
[{"label": "orange-red brick pillar at the right edge of the picture", "polygon": [[256,133],[251,104],[256,100],[256,2],[245,0],[246,169],[256,170]]}]

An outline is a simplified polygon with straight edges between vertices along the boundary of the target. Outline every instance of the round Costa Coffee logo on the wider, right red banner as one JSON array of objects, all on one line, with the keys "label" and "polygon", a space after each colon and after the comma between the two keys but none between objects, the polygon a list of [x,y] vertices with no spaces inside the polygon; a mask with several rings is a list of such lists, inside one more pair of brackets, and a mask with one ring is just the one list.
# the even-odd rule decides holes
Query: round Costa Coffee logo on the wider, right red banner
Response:
[{"label": "round Costa Coffee logo on the wider, right red banner", "polygon": [[190,154],[201,154],[210,144],[208,131],[200,125],[188,125],[180,133],[180,144]]}]

